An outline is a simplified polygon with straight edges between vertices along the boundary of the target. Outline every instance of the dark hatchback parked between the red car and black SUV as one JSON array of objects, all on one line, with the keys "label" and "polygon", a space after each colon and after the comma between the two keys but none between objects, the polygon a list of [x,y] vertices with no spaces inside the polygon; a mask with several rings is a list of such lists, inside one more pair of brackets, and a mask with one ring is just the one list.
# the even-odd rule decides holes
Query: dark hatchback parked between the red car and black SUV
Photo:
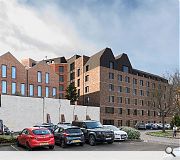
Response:
[{"label": "dark hatchback parked between the red car and black SUV", "polygon": [[84,145],[84,134],[79,127],[62,125],[54,130],[54,140],[65,148],[70,144]]}]

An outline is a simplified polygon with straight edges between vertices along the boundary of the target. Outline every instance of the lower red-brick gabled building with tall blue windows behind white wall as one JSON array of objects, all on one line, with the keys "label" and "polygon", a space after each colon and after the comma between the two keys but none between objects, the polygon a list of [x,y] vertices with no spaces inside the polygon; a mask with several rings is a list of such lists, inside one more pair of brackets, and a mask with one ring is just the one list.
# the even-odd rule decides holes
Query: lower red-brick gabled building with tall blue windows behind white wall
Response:
[{"label": "lower red-brick gabled building with tall blue windows behind white wall", "polygon": [[45,61],[20,63],[9,52],[0,56],[0,94],[57,98],[58,80]]}]

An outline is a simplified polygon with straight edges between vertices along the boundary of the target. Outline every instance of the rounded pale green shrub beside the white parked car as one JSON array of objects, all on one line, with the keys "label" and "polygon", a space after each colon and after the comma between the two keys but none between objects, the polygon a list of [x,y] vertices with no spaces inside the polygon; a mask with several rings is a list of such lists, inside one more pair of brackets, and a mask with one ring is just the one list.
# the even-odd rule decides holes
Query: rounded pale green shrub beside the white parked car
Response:
[{"label": "rounded pale green shrub beside the white parked car", "polygon": [[128,139],[140,139],[140,132],[132,127],[121,127],[121,130],[125,131],[128,134]]}]

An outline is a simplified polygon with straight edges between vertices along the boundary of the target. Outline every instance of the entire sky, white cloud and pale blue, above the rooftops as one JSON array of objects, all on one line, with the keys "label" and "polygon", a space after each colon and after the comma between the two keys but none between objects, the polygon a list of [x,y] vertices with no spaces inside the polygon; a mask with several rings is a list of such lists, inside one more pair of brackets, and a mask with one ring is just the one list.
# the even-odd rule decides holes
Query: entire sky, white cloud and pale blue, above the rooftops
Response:
[{"label": "entire sky, white cloud and pale blue, above the rooftops", "polygon": [[110,47],[134,68],[179,68],[178,0],[0,0],[0,55],[36,60]]}]

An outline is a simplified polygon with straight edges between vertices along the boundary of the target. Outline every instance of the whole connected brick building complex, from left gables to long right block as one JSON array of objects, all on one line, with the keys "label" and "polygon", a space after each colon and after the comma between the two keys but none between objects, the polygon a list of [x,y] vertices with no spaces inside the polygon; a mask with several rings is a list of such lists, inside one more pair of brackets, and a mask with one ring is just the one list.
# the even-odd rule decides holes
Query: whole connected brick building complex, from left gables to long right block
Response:
[{"label": "whole connected brick building complex, from left gables to long right block", "polygon": [[110,48],[91,57],[24,59],[22,63],[8,52],[0,56],[0,75],[0,94],[65,98],[67,86],[74,84],[77,103],[100,107],[101,122],[116,126],[161,122],[147,97],[152,88],[168,85],[160,76],[134,69],[126,54],[114,57]]}]

